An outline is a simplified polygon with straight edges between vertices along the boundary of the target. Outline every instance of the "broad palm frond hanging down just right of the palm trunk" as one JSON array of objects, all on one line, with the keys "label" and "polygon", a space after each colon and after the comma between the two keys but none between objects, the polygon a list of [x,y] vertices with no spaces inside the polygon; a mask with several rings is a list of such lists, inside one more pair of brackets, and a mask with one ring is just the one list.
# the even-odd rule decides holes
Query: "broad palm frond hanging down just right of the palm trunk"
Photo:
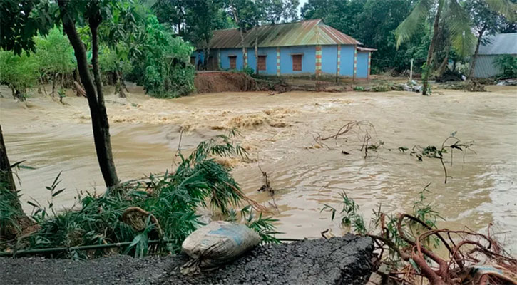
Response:
[{"label": "broad palm frond hanging down just right of the palm trunk", "polygon": [[444,21],[451,36],[452,47],[459,56],[468,56],[474,51],[476,36],[471,31],[471,20],[458,1],[449,0]]}]

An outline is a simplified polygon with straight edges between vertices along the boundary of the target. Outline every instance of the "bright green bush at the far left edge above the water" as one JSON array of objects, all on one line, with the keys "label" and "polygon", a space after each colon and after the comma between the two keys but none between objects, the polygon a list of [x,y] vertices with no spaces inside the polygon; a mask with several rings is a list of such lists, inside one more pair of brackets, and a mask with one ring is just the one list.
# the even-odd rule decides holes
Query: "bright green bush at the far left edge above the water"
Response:
[{"label": "bright green bush at the far left edge above the water", "polygon": [[0,51],[0,82],[19,93],[16,96],[22,100],[26,98],[26,90],[37,83],[38,71],[39,63],[34,55],[16,56],[12,51]]}]

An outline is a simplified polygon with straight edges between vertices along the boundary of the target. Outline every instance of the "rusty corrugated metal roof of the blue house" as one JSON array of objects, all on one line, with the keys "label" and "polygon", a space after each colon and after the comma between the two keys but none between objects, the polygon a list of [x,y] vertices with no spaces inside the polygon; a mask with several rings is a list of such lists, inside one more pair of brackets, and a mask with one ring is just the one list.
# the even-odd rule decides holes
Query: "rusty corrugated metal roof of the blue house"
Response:
[{"label": "rusty corrugated metal roof of the blue house", "polygon": [[[351,36],[327,26],[321,19],[300,21],[286,24],[272,24],[259,26],[258,46],[314,46],[350,44],[361,45]],[[245,47],[255,46],[255,28],[244,34]],[[237,28],[214,31],[210,48],[241,48],[240,33]]]}]

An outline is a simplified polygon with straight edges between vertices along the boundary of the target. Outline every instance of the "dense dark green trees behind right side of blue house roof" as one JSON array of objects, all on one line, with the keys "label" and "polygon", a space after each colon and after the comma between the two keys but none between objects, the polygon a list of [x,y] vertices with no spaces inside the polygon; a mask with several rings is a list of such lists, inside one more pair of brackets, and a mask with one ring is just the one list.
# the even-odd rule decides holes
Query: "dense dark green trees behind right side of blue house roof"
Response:
[{"label": "dense dark green trees behind right side of blue house roof", "polygon": [[[411,58],[425,60],[430,37],[428,21],[419,22],[414,36],[396,48],[394,30],[411,12],[412,0],[309,0],[302,6],[304,19],[323,19],[364,46],[377,48],[372,53],[372,73],[409,69]],[[419,68],[414,66],[414,71]]]}]

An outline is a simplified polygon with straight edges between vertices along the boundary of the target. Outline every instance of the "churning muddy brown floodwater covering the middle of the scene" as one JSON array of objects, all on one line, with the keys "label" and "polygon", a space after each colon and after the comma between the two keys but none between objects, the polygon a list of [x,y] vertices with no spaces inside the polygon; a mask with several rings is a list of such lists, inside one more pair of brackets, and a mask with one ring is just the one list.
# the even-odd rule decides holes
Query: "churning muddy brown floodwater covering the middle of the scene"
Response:
[{"label": "churning muddy brown floodwater covering the middle of the scene", "polygon": [[[108,95],[113,154],[121,180],[172,169],[178,149],[237,128],[237,141],[249,152],[247,160],[221,160],[252,199],[265,204],[279,219],[282,237],[319,237],[324,229],[340,234],[338,222],[323,204],[339,206],[339,193],[357,202],[365,217],[382,204],[386,212],[412,211],[419,192],[447,222],[485,231],[493,223],[498,238],[517,252],[517,88],[490,86],[490,92],[434,90],[416,93],[214,93],[160,100],[138,88],[128,98]],[[103,192],[96,162],[86,99],[73,94],[61,105],[35,95],[25,103],[1,89],[1,126],[11,162],[25,160],[35,169],[18,171],[22,199],[46,204],[45,185],[58,172],[66,191],[54,204],[71,207],[78,190]],[[338,140],[318,142],[350,121],[367,121],[374,128],[354,130]],[[365,158],[360,151],[364,132],[372,139]],[[452,132],[462,141],[474,140],[475,152],[450,153],[451,177],[444,184],[438,159],[419,162],[409,155],[414,145],[436,145]],[[383,142],[383,143],[380,143]],[[399,147],[408,147],[406,152]],[[344,154],[342,151],[349,153]],[[263,184],[257,165],[270,176],[275,195],[257,192]],[[25,204],[25,209],[31,207]]]}]

